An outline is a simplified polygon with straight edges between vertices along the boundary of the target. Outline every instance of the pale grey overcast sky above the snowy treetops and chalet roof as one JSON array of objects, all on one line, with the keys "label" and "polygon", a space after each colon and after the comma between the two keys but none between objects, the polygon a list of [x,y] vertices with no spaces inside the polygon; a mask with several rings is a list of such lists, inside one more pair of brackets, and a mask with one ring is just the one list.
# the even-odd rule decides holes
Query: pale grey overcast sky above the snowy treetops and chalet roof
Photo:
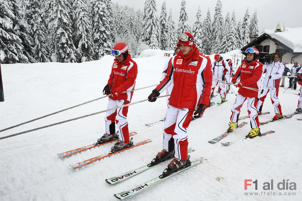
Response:
[{"label": "pale grey overcast sky above the snowy treetops and chalet roof", "polygon": [[[144,9],[145,3],[144,0],[112,0],[112,2],[118,2],[120,5],[128,5],[141,10]],[[158,17],[160,17],[163,2],[164,0],[156,0]],[[172,9],[176,26],[178,24],[181,2],[181,0],[166,0],[167,13],[169,15],[170,9]],[[200,6],[203,19],[207,14],[208,8],[210,8],[213,20],[216,2],[217,0],[186,0],[189,25],[192,26],[196,21],[198,6]],[[228,11],[230,11],[231,15],[235,9],[237,20],[241,19],[242,21],[247,6],[249,7],[250,15],[257,10],[260,33],[264,28],[276,28],[278,22],[280,22],[281,27],[284,22],[290,22],[290,24],[286,24],[286,27],[289,28],[302,27],[301,0],[221,0],[221,2],[223,18],[225,18]]]}]

